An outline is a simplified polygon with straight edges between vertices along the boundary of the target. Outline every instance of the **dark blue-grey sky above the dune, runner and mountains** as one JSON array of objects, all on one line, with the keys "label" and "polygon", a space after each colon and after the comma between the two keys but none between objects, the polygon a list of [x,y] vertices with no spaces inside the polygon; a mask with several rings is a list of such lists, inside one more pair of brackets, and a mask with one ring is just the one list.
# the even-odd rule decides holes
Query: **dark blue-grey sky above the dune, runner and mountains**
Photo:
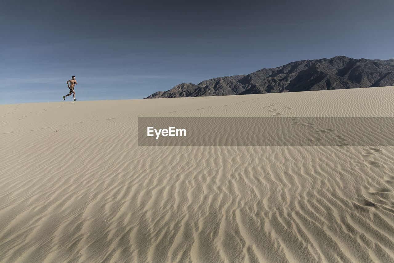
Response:
[{"label": "dark blue-grey sky above the dune, runner and mountains", "polygon": [[[394,58],[393,0],[1,0],[0,104],[145,98],[292,61]],[[67,97],[66,100],[71,100]]]}]

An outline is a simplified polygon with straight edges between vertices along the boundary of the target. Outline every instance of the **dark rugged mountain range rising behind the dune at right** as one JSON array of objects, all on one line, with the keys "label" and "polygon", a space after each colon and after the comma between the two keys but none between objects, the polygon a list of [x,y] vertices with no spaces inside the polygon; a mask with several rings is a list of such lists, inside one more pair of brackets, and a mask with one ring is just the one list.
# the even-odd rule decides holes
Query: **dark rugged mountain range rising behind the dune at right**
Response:
[{"label": "dark rugged mountain range rising behind the dune at right", "polygon": [[218,77],[197,85],[182,83],[147,98],[179,98],[239,94],[336,90],[394,86],[394,58],[354,59],[346,56],[301,60],[248,75]]}]

